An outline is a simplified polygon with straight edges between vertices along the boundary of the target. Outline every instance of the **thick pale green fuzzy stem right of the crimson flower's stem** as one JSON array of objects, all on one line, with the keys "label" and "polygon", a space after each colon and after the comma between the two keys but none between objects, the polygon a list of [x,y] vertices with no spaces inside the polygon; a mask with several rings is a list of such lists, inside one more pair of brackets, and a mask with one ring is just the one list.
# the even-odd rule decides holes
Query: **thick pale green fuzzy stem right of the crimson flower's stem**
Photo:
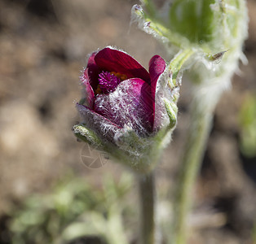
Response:
[{"label": "thick pale green fuzzy stem right of the crimson flower's stem", "polygon": [[203,101],[195,99],[191,107],[192,124],[188,131],[174,202],[174,240],[171,242],[174,244],[184,244],[187,241],[187,217],[192,205],[193,186],[211,128],[212,110],[201,109],[201,102]]}]

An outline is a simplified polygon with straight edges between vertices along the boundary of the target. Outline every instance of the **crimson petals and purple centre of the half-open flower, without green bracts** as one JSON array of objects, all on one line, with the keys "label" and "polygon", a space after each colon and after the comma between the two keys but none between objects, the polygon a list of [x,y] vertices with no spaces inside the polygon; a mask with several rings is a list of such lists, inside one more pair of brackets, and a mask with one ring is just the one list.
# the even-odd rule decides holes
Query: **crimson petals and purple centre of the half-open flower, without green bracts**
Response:
[{"label": "crimson petals and purple centre of the half-open flower, without green bracts", "polygon": [[158,55],[150,60],[148,72],[129,54],[112,47],[90,54],[81,77],[85,102],[77,105],[78,110],[90,111],[101,124],[108,120],[119,129],[128,126],[148,136],[155,130],[157,81],[165,69],[166,62]]}]

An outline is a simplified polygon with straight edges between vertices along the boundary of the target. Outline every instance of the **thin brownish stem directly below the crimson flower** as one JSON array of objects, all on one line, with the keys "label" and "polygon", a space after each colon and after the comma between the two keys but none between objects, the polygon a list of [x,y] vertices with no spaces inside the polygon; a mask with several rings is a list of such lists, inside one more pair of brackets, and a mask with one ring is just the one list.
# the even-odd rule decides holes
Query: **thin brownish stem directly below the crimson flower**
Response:
[{"label": "thin brownish stem directly below the crimson flower", "polygon": [[155,223],[155,184],[154,172],[139,178],[140,196],[140,244],[156,243],[156,223]]}]

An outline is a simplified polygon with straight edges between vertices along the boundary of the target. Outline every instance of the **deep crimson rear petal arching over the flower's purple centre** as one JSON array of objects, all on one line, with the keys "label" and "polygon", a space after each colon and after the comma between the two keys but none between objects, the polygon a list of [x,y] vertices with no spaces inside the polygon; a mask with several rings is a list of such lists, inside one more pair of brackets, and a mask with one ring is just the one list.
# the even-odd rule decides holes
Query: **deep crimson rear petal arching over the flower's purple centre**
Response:
[{"label": "deep crimson rear petal arching over the flower's purple centre", "polygon": [[95,55],[97,66],[108,72],[119,72],[127,78],[140,78],[150,84],[150,76],[134,58],[121,50],[115,50],[109,47],[100,50]]}]

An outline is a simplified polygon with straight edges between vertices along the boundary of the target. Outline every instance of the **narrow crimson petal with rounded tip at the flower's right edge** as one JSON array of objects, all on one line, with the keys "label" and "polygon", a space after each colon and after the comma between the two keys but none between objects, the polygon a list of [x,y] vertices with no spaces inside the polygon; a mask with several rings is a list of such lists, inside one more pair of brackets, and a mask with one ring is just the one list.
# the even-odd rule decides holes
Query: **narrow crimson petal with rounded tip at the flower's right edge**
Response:
[{"label": "narrow crimson petal with rounded tip at the flower's right edge", "polygon": [[159,55],[155,55],[149,61],[149,74],[151,78],[151,92],[152,92],[152,100],[153,100],[153,115],[155,117],[155,96],[156,96],[156,88],[157,81],[161,74],[166,69],[166,61],[161,58]]}]

